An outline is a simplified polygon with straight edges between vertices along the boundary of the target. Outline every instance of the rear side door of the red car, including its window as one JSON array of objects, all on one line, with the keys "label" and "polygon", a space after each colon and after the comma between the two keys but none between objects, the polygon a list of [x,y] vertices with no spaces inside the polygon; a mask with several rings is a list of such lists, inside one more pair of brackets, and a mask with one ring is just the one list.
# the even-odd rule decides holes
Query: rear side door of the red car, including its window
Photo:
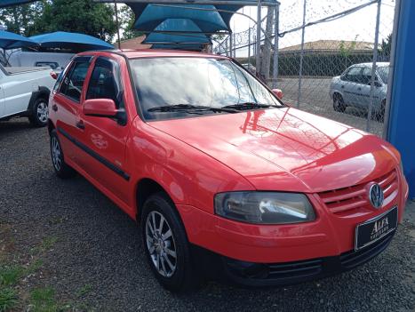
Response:
[{"label": "rear side door of the red car, including its window", "polygon": [[59,111],[57,131],[60,136],[60,144],[65,156],[74,163],[79,164],[79,150],[74,144],[77,137],[83,135],[79,128],[78,120],[81,112],[81,94],[84,89],[84,81],[92,57],[78,57],[72,61],[63,73],[60,85],[55,87],[52,95],[52,110]]}]

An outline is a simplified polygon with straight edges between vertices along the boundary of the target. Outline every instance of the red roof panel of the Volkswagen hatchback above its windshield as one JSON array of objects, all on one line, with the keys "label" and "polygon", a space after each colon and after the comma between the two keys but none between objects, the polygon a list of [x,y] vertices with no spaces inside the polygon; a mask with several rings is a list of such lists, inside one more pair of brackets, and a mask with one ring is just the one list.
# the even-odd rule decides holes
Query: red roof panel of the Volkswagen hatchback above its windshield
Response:
[{"label": "red roof panel of the Volkswagen hatchback above its windshield", "polygon": [[[178,51],[178,50],[159,50],[159,49],[140,49],[140,50],[129,50],[129,49],[122,49],[122,50],[105,50],[100,52],[113,52],[116,54],[122,54],[127,59],[138,59],[138,58],[155,58],[155,57],[201,57],[201,58],[217,58],[217,59],[225,59],[225,56],[216,55],[216,54],[209,54],[209,53],[201,53],[201,52],[189,52],[189,51]],[[91,53],[84,52],[84,53]],[[84,54],[81,53],[81,54]]]}]

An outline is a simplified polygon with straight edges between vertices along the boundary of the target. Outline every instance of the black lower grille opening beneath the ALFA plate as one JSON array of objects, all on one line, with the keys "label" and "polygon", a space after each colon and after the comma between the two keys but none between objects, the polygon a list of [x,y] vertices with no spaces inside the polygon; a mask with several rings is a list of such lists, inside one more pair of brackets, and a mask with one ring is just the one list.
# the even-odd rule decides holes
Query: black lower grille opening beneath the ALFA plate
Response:
[{"label": "black lower grille opening beneath the ALFA plate", "polygon": [[379,239],[378,242],[370,244],[369,246],[355,252],[345,252],[340,255],[340,262],[344,268],[355,268],[360,266],[364,262],[371,260],[372,258],[376,257],[380,252],[383,252],[387,245],[392,240],[394,236],[394,232],[388,234],[385,237]]}]

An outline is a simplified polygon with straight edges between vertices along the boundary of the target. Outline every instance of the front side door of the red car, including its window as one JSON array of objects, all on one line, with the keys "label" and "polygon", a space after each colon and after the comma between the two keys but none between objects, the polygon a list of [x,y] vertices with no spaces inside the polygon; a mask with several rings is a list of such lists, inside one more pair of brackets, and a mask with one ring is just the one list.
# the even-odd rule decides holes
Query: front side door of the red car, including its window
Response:
[{"label": "front side door of the red car, including its window", "polygon": [[[116,60],[99,57],[92,67],[84,100],[114,100],[116,108],[125,112],[119,64]],[[85,116],[81,112],[79,119],[84,128],[79,140],[88,154],[82,160],[84,171],[125,204],[128,203],[130,179],[125,169],[125,145],[129,132],[126,114],[121,121],[104,116]]]}]

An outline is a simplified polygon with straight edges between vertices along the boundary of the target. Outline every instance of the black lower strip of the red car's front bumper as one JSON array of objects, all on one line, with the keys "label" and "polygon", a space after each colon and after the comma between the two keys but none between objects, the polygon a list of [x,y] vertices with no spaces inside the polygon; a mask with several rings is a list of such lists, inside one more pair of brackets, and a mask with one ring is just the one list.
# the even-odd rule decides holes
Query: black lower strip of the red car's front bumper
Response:
[{"label": "black lower strip of the red car's front bumper", "polygon": [[357,252],[344,252],[339,256],[281,263],[253,263],[222,257],[222,268],[228,280],[244,286],[275,286],[299,284],[362,265],[383,252],[395,232]]}]

